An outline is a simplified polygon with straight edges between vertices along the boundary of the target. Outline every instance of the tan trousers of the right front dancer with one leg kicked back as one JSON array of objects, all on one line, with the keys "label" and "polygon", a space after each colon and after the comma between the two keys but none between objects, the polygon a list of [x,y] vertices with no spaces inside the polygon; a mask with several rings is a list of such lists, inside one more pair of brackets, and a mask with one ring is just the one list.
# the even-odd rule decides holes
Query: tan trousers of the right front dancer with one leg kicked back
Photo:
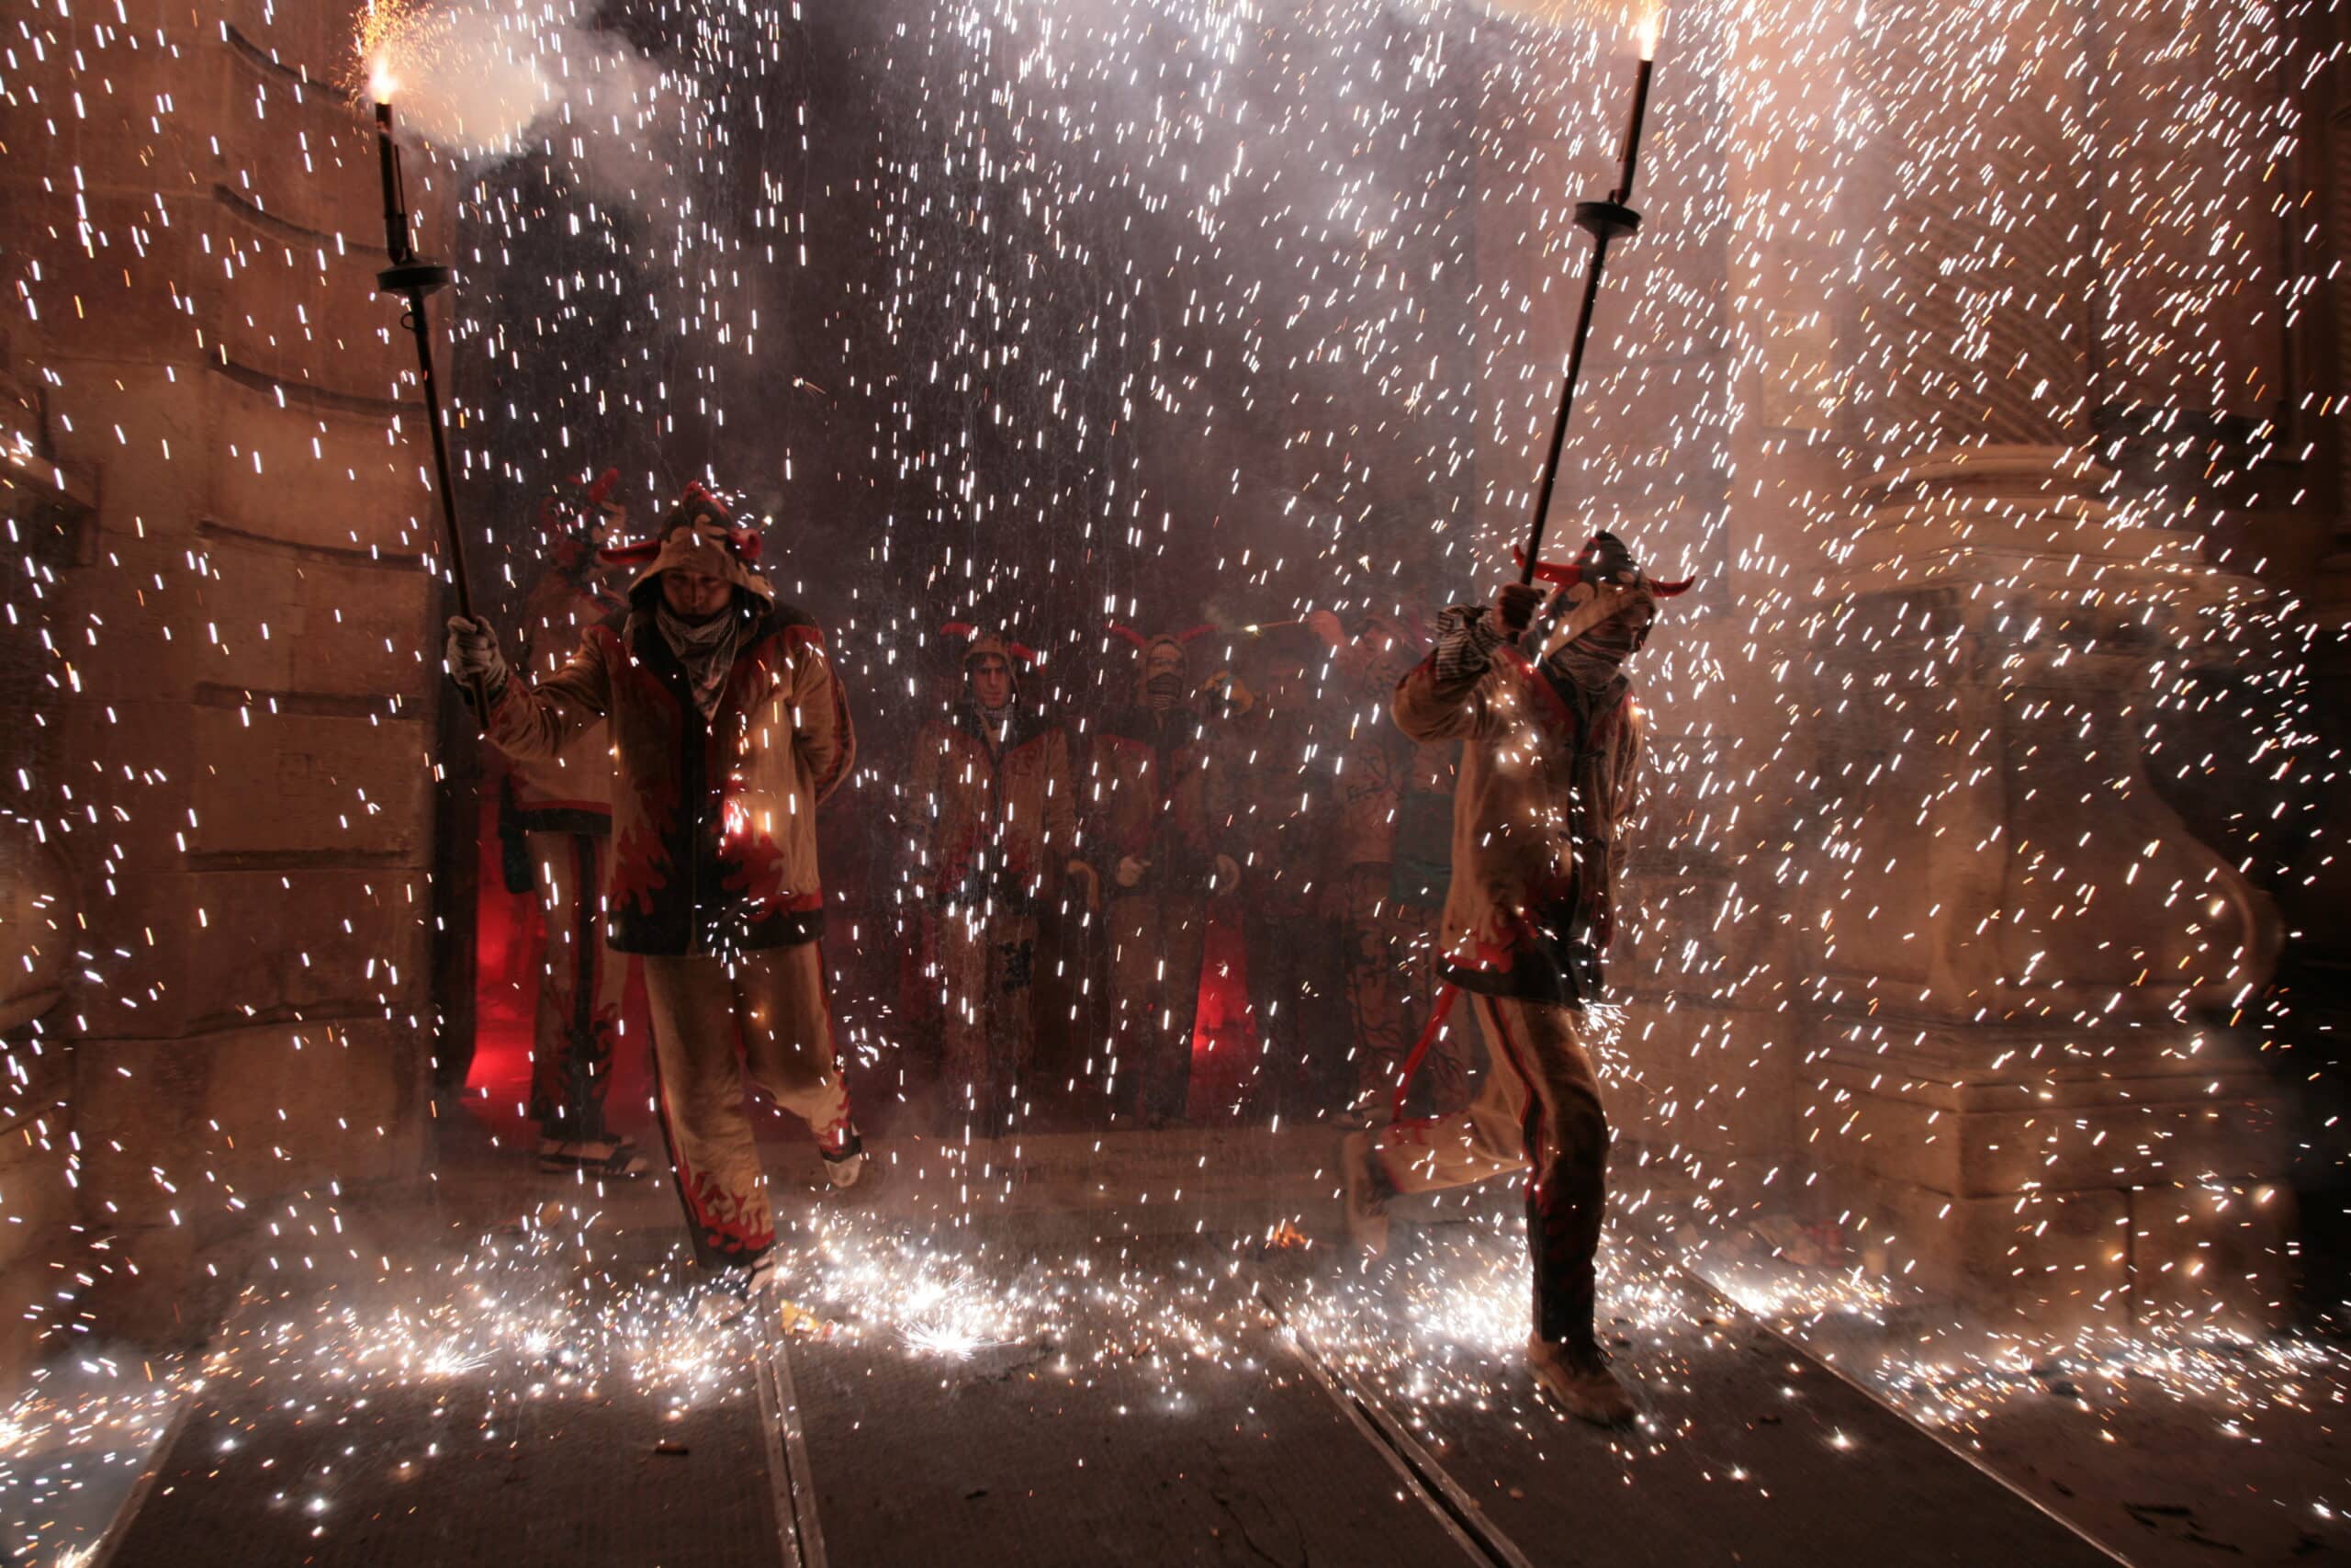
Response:
[{"label": "tan trousers of the right front dancer with one leg kicked back", "polygon": [[1396,1192],[1434,1192],[1526,1171],[1535,1333],[1592,1349],[1594,1255],[1608,1190],[1608,1117],[1575,1009],[1465,994],[1486,1034],[1486,1086],[1451,1117],[1380,1128]]}]

